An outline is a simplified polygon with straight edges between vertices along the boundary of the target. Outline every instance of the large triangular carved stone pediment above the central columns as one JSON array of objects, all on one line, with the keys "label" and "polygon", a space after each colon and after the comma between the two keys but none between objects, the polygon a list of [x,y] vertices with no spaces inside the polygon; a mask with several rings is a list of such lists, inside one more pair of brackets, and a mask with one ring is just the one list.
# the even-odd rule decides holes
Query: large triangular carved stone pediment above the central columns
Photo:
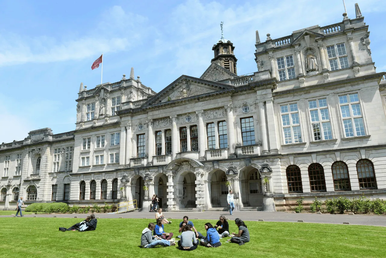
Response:
[{"label": "large triangular carved stone pediment above the central columns", "polygon": [[193,96],[211,94],[213,92],[233,88],[234,86],[231,85],[182,75],[162,91],[152,96],[142,106],[150,106],[157,103],[176,101],[179,99],[188,99]]}]

